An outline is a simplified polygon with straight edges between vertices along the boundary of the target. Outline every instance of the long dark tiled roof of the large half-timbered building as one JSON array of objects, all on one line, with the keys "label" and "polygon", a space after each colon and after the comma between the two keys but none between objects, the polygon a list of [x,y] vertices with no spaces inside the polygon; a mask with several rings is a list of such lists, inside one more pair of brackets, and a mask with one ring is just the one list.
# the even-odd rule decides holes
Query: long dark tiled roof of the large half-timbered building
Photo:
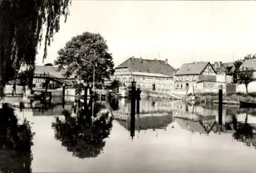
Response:
[{"label": "long dark tiled roof of the large half-timbered building", "polygon": [[129,58],[125,60],[123,63],[118,65],[116,68],[127,67],[129,70],[133,72],[141,72],[141,73],[153,73],[160,74],[164,76],[173,77],[173,73],[176,72],[176,69],[169,64],[166,64],[165,61],[162,60],[146,60],[140,58]]}]

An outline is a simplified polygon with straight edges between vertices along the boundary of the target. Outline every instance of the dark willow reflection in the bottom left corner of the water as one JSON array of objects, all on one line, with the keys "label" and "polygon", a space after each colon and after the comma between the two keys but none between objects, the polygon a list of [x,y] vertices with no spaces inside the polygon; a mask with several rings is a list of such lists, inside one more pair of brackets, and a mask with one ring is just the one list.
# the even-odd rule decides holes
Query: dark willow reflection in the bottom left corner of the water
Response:
[{"label": "dark willow reflection in the bottom left corner of the water", "polygon": [[32,139],[29,121],[18,125],[14,110],[4,104],[0,109],[0,171],[32,172]]}]

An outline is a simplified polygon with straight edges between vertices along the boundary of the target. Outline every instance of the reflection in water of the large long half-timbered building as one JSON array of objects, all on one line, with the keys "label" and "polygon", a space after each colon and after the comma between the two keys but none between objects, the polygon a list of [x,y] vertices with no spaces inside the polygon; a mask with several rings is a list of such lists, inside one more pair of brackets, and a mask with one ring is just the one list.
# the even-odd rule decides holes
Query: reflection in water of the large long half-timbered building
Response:
[{"label": "reflection in water of the large long half-timbered building", "polygon": [[131,101],[121,98],[119,99],[119,109],[112,109],[112,114],[121,126],[130,131],[132,138],[135,136],[135,131],[138,131],[139,137],[140,131],[149,129],[156,131],[156,136],[158,136],[158,129],[166,131],[167,126],[173,122],[172,109],[175,102],[177,101],[142,97],[140,113],[135,115],[135,121],[133,121],[131,118]]}]

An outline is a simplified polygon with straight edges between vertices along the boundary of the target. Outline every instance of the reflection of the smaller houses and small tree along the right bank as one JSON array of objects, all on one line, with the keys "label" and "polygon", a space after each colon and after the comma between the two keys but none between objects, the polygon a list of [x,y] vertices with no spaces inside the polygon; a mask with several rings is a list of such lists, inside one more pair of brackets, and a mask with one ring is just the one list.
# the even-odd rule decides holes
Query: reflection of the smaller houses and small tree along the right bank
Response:
[{"label": "reflection of the smaller houses and small tree along the right bank", "polygon": [[191,133],[230,133],[233,139],[256,148],[256,109],[223,106],[222,125],[218,125],[218,105],[179,102],[174,114],[179,126]]}]

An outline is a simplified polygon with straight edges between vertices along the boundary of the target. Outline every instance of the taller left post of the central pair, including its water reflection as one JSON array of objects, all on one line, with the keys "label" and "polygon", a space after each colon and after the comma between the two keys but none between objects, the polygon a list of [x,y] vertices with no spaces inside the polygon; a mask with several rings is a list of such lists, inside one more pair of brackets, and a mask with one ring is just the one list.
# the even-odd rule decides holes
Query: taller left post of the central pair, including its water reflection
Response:
[{"label": "taller left post of the central pair, including its water reflection", "polygon": [[135,104],[136,104],[136,82],[132,82],[132,98],[131,98],[131,137],[135,136]]}]

